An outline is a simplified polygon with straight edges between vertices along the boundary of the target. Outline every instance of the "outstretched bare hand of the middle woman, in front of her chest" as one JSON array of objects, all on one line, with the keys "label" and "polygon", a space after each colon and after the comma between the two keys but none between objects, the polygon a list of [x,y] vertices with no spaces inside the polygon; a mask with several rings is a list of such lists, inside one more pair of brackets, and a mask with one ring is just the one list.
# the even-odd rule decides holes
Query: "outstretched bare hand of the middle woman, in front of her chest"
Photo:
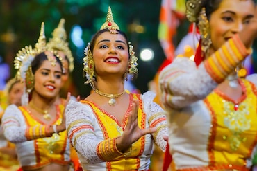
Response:
[{"label": "outstretched bare hand of the middle woman, in front of her chest", "polygon": [[132,143],[138,141],[142,136],[156,132],[156,128],[154,127],[147,129],[140,129],[138,127],[138,100],[133,100],[132,105],[131,113],[128,116],[128,123],[122,136],[119,136],[116,141],[117,149],[120,152],[128,150]]}]

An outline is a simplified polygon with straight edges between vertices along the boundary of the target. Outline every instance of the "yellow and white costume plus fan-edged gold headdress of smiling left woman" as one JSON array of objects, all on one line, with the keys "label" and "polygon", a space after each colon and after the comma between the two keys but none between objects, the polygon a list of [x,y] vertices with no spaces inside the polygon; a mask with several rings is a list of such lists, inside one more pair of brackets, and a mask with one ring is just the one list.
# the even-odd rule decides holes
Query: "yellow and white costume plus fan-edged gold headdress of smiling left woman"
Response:
[{"label": "yellow and white costume plus fan-edged gold headdress of smiling left woman", "polygon": [[[15,148],[19,164],[24,170],[35,170],[42,168],[50,163],[59,165],[69,165],[70,145],[66,131],[56,134],[49,132],[52,125],[60,125],[63,121],[64,105],[56,105],[56,118],[51,122],[44,122],[33,116],[27,108],[28,93],[34,88],[33,73],[31,62],[36,55],[47,51],[46,40],[44,35],[44,23],[40,30],[40,37],[35,44],[35,48],[25,46],[15,57],[15,68],[19,69],[17,77],[22,78],[26,83],[22,97],[22,106],[9,105],[4,111],[2,128],[4,136],[11,143],[15,143]],[[54,60],[49,57],[49,62],[55,64]]]}]

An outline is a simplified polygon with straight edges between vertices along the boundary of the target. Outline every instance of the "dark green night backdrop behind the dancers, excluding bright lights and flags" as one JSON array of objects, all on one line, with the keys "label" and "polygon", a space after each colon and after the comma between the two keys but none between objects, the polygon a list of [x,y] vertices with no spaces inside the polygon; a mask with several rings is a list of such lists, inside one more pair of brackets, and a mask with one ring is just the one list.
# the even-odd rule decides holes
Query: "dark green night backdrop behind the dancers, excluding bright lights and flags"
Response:
[{"label": "dark green night backdrop behind the dancers, excluding bright lights and flags", "polygon": [[[139,57],[140,49],[152,48],[155,56],[151,62],[138,60],[139,74],[133,83],[142,93],[148,90],[147,84],[154,78],[158,67],[165,59],[163,49],[158,41],[158,24],[160,0],[1,0],[0,1],[0,55],[3,62],[10,65],[11,77],[15,75],[13,60],[17,51],[27,45],[34,46],[38,40],[41,22],[45,23],[47,40],[60,21],[65,19],[69,46],[74,55],[75,69],[72,73],[74,85],[82,97],[90,93],[90,86],[83,84],[83,50],[92,35],[99,30],[106,20],[108,6],[112,8],[115,22],[128,35],[134,46],[135,55]],[[77,48],[69,34],[72,27],[81,26],[84,41],[83,48]],[[144,28],[137,33],[135,26]],[[178,29],[174,43],[187,33],[188,23],[183,21]]]}]

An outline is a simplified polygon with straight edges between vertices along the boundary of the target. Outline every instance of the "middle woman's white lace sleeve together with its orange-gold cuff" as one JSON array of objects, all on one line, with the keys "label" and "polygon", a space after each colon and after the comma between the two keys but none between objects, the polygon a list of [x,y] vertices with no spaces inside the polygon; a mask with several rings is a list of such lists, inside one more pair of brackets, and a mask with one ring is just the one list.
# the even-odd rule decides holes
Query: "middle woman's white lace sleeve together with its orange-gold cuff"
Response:
[{"label": "middle woman's white lace sleeve together with its orange-gold cuff", "polygon": [[65,114],[70,143],[76,152],[83,156],[85,163],[110,161],[123,155],[117,150],[116,138],[101,141],[101,138],[97,137],[101,133],[95,130],[97,118],[89,105],[70,100]]}]

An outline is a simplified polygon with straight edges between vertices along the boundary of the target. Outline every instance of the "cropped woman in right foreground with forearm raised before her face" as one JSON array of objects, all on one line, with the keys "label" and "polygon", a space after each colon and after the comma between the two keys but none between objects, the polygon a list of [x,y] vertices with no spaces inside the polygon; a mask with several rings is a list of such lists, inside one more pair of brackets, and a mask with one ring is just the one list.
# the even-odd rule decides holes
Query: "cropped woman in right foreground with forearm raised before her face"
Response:
[{"label": "cropped woman in right foreground with forearm raised before her face", "polygon": [[201,39],[194,62],[177,57],[160,73],[176,170],[249,170],[256,152],[257,77],[241,62],[256,37],[253,0],[188,0]]}]

